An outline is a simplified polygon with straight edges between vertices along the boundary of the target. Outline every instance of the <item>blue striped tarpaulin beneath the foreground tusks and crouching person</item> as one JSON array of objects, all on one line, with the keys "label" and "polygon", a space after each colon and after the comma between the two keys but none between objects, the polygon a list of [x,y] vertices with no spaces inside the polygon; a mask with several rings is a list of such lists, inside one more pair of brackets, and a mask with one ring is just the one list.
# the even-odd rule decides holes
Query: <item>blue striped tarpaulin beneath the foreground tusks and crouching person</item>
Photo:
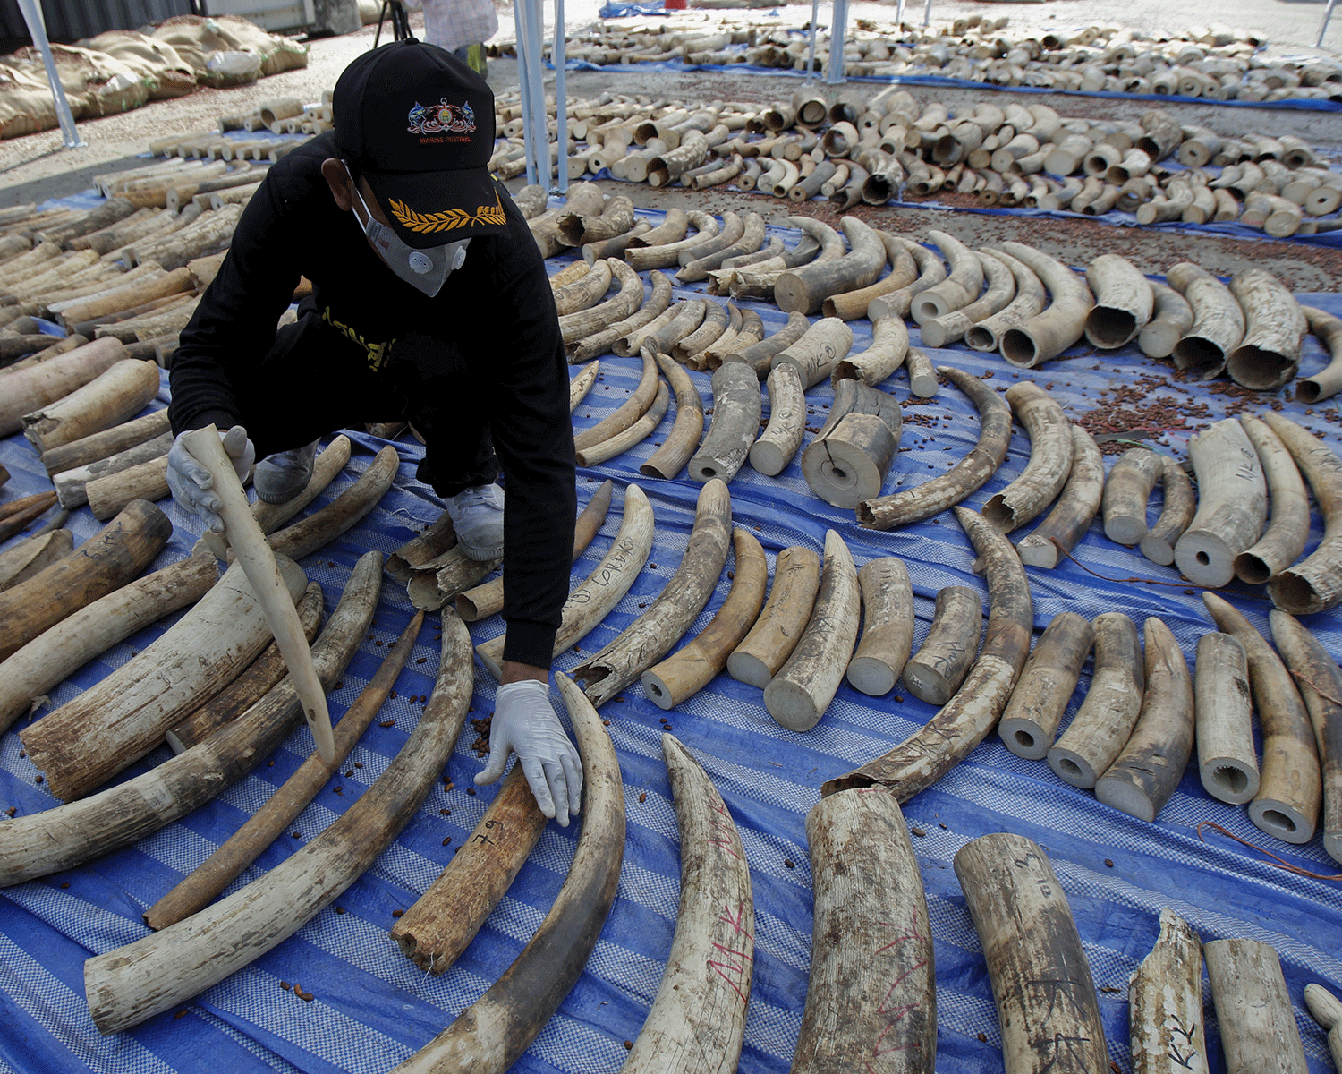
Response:
[{"label": "blue striped tarpaulin beneath the foreground tusks and crouching person", "polygon": [[[656,213],[647,213],[656,220]],[[781,232],[789,244],[796,232]],[[1023,219],[1019,238],[1028,242],[1031,224]],[[550,271],[569,263],[553,259]],[[678,289],[682,297],[701,294],[702,285]],[[1300,295],[1302,301],[1342,314],[1337,295]],[[774,306],[753,306],[769,330],[785,315]],[[854,350],[871,341],[866,321],[852,322]],[[917,329],[911,330],[918,342]],[[1186,458],[1194,428],[1220,418],[1244,400],[1225,393],[1227,383],[1182,383],[1169,364],[1145,358],[1134,348],[1096,353],[1076,346],[1064,357],[1033,371],[1009,367],[998,356],[984,356],[961,345],[930,352],[939,364],[956,365],[989,377],[1007,388],[1017,380],[1044,387],[1072,419],[1080,419],[1117,392],[1141,392],[1126,405],[1137,411],[1133,438]],[[1308,376],[1326,362],[1322,348],[1307,341],[1300,373]],[[586,428],[628,397],[637,384],[637,358],[601,360],[601,380],[573,415],[574,428]],[[576,371],[574,371],[576,372]],[[711,407],[709,376],[691,373]],[[913,487],[945,473],[976,443],[978,419],[956,388],[943,385],[937,397],[911,397],[903,373],[884,385],[903,405],[900,454],[886,491]],[[1169,396],[1184,404],[1185,420],[1155,426],[1142,407]],[[162,405],[166,392],[154,405]],[[832,400],[828,385],[808,393],[815,409],[812,427],[823,423]],[[462,400],[470,405],[470,400]],[[1290,391],[1255,397],[1251,411],[1272,407],[1322,435],[1342,450],[1334,400],[1303,407]],[[766,409],[768,413],[768,409]],[[568,670],[617,635],[640,614],[671,577],[686,548],[701,486],[684,474],[670,481],[646,478],[639,465],[671,428],[675,408],[654,435],[608,463],[578,471],[578,498],[585,502],[605,478],[616,483],[611,514],[586,553],[573,565],[578,584],[600,563],[619,529],[624,489],[636,482],[656,517],[656,537],[648,565],[628,596],[597,630],[565,651],[556,667]],[[711,420],[711,415],[709,419]],[[1147,430],[1143,432],[1142,430]],[[342,475],[314,505],[329,502],[348,487],[384,442],[352,434],[354,455]],[[808,436],[809,439],[809,436]],[[354,560],[368,549],[391,552],[432,522],[442,510],[432,491],[419,485],[415,465],[423,451],[411,438],[396,443],[401,458],[393,489],[381,503],[333,545],[309,556],[303,567],[326,592],[327,611],[345,584]],[[980,507],[1016,478],[1029,455],[1029,442],[1016,430],[1001,470],[966,501]],[[1113,459],[1107,459],[1111,463]],[[0,502],[50,487],[36,452],[21,436],[0,440],[0,463],[11,471]],[[789,545],[821,549],[827,529],[847,541],[858,565],[878,556],[899,556],[909,567],[915,595],[914,644],[922,643],[931,619],[933,600],[946,585],[974,587],[986,600],[984,581],[973,573],[973,552],[950,513],[880,533],[856,526],[852,511],[817,499],[793,462],[769,478],[749,465],[730,485],[733,522],[750,529],[764,545],[770,569]],[[158,557],[162,567],[188,553],[199,524],[170,501],[160,506],[174,524],[174,536]],[[1153,505],[1153,511],[1158,507]],[[1307,550],[1319,540],[1315,532]],[[99,529],[87,509],[71,514],[76,541]],[[1015,536],[1023,536],[1017,533]],[[9,546],[8,544],[0,549]],[[1138,624],[1158,615],[1178,638],[1192,665],[1197,639],[1212,630],[1198,591],[1169,568],[1108,541],[1099,522],[1053,571],[1029,568],[1036,631],[1056,614],[1074,611],[1088,618],[1121,611]],[[729,560],[727,567],[731,568]],[[729,589],[726,572],[714,596],[684,640],[701,631]],[[1261,588],[1232,585],[1225,593],[1260,630],[1267,631],[1270,604]],[[385,644],[408,623],[411,608],[404,589],[386,580],[373,638],[331,694],[331,716],[338,718],[378,666]],[[1334,658],[1342,655],[1342,616],[1335,612],[1307,618],[1307,624]],[[79,671],[52,691],[38,718],[75,697],[133,651],[158,636],[165,624],[146,628]],[[482,642],[503,630],[495,616],[471,624]],[[420,713],[409,698],[428,694],[437,663],[431,619],[396,683],[391,699],[373,721],[344,772],[334,777],[293,826],[294,835],[278,839],[228,890],[264,875],[297,847],[348,810],[404,746]],[[1036,635],[1037,636],[1037,635]],[[424,663],[417,663],[423,658]],[[3,666],[0,666],[3,674]],[[1068,720],[1084,694],[1090,670],[1068,710]],[[475,716],[493,707],[494,683],[476,665]],[[556,702],[558,706],[558,702]],[[562,710],[562,706],[558,706]],[[625,785],[628,835],[624,867],[613,910],[577,987],[542,1030],[514,1070],[525,1074],[596,1074],[616,1071],[656,992],[679,897],[679,836],[674,803],[660,756],[663,718],[703,764],[735,820],[750,865],[757,932],[753,988],[746,1022],[741,1070],[746,1074],[782,1074],[792,1051],[807,996],[812,929],[812,889],[804,820],[820,797],[820,784],[848,772],[905,738],[925,724],[934,709],[903,693],[900,686],[883,698],[866,697],[848,685],[821,721],[809,732],[794,733],[776,724],[762,705],[761,691],[717,677],[707,689],[678,709],[663,712],[637,685],[608,702],[601,716],[609,721]],[[382,722],[392,721],[389,726]],[[38,771],[23,756],[15,726],[0,736],[0,826],[11,807],[30,815],[56,806]],[[148,933],[141,914],[199,865],[306,759],[313,742],[306,729],[295,732],[251,776],[213,803],[168,826],[127,850],[109,854],[79,869],[0,891],[0,1071],[11,1074],[140,1074],[141,1071],[306,1071],[310,1074],[381,1074],[432,1039],[464,1007],[476,1000],[518,955],[549,910],[564,882],[573,854],[577,826],[546,828],[530,861],[484,928],[447,972],[428,976],[407,960],[388,937],[393,914],[408,909],[439,875],[480,819],[497,788],[472,795],[471,777],[480,760],[471,750],[467,729],[456,753],[428,799],[396,842],[336,905],[322,910],[293,937],[246,969],[142,1026],[101,1036],[83,996],[83,963],[95,953]],[[145,771],[168,756],[160,748],[126,775]],[[357,763],[357,767],[356,767]],[[447,784],[451,789],[447,789]],[[336,788],[341,793],[336,793]],[[1129,1053],[1127,979],[1150,950],[1158,914],[1165,906],[1188,918],[1202,940],[1252,937],[1280,955],[1287,988],[1295,1007],[1311,1074],[1325,1074],[1330,1059],[1323,1032],[1304,1010],[1302,989],[1319,981],[1342,991],[1342,891],[1330,879],[1315,879],[1272,867],[1264,857],[1219,834],[1197,835],[1197,824],[1215,822],[1287,862],[1318,874],[1335,874],[1338,863],[1323,852],[1319,836],[1304,846],[1282,843],[1257,831],[1243,807],[1209,797],[1189,767],[1174,797],[1155,823],[1145,823],[1096,801],[1059,780],[1043,763],[1024,761],[990,734],[966,761],[905,807],[914,828],[927,891],[937,965],[937,1070],[942,1074],[993,1074],[1002,1070],[1001,1036],[994,1014],[978,937],[965,909],[964,894],[951,870],[956,851],[986,832],[1027,835],[1048,852],[1076,920],[1090,960],[1106,1038],[1121,1071],[1131,1070]],[[0,852],[3,852],[0,827]],[[311,993],[303,1002],[294,989]],[[1212,1070],[1223,1070],[1217,1023],[1206,1000],[1208,1050]]]}]

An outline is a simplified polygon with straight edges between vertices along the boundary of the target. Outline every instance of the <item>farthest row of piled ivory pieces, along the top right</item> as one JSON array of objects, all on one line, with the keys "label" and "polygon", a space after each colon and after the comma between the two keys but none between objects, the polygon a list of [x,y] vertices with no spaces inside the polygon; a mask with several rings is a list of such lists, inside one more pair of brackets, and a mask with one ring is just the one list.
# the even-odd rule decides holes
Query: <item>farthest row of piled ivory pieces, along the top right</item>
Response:
[{"label": "farthest row of piled ivory pieces, along the top right", "polygon": [[[1007,19],[973,15],[937,30],[882,27],[867,20],[844,43],[848,75],[956,78],[997,86],[1130,94],[1177,94],[1217,101],[1337,99],[1342,64],[1331,59],[1268,59],[1260,38],[1243,30],[1193,27],[1182,34],[1091,26],[1076,34],[1016,31]],[[741,48],[745,46],[745,48]],[[680,60],[807,68],[801,26],[742,20],[675,20],[572,36],[569,60],[628,64]],[[507,48],[507,46],[505,46]],[[816,70],[829,40],[816,40]]]}]

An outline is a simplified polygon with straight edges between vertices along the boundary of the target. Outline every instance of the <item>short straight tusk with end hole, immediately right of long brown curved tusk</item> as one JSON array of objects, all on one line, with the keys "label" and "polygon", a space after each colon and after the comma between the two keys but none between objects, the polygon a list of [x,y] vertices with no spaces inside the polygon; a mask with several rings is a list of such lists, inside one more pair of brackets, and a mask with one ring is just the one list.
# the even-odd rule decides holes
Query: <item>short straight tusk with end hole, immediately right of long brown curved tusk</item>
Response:
[{"label": "short straight tusk with end hole, immediately right of long brown curved tusk", "polygon": [[1041,761],[1048,754],[1094,642],[1090,620],[1076,612],[1059,612],[1044,628],[997,725],[1017,757]]}]

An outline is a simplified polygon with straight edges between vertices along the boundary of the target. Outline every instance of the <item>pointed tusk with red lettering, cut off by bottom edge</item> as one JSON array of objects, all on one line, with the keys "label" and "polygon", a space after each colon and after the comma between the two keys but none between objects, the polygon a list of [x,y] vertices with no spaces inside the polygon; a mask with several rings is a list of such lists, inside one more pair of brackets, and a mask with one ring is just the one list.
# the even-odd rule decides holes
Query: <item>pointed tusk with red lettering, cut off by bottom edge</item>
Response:
[{"label": "pointed tusk with red lettering, cut off by bottom edge", "polygon": [[680,830],[680,906],[667,968],[620,1074],[735,1070],[754,968],[750,869],[722,795],[662,736]]}]

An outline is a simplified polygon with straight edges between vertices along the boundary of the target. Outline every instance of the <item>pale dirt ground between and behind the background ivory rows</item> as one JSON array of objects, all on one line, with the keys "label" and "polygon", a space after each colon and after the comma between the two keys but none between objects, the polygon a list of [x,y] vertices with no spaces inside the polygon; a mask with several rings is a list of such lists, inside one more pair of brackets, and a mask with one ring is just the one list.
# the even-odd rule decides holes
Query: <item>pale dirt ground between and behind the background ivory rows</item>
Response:
[{"label": "pale dirt ground between and behind the background ivory rows", "polygon": [[[601,0],[568,0],[566,26],[572,30],[597,19]],[[777,9],[781,19],[804,21],[809,11],[804,5]],[[1051,0],[1043,4],[985,4],[976,0],[937,0],[933,21],[939,24],[965,13],[1009,15],[1012,28],[1080,28],[1091,23],[1114,24],[1118,19],[1111,4],[1098,0]],[[1342,46],[1342,15],[1330,27],[1323,50],[1314,50],[1322,19],[1322,3],[1283,3],[1282,0],[1225,0],[1216,8],[1216,21],[1241,26],[1270,39],[1270,51],[1276,55],[1337,56]],[[738,13],[738,12],[729,12]],[[768,17],[768,9],[758,12]],[[922,4],[909,4],[906,21],[921,21]],[[1190,0],[1131,0],[1122,8],[1122,26],[1143,31],[1161,28],[1182,30],[1206,20],[1206,7]],[[513,38],[511,8],[501,7],[501,27],[495,40]],[[715,12],[702,12],[711,19]],[[825,21],[829,5],[821,5],[820,19]],[[854,3],[849,24],[859,17],[890,21],[894,4]],[[420,16],[412,16],[419,26]],[[317,101],[322,90],[331,87],[340,71],[358,52],[372,47],[376,27],[364,27],[356,34],[310,42],[309,66],[263,79],[254,86],[235,90],[200,90],[176,101],[160,101],[122,115],[105,117],[79,124],[82,137],[89,142],[79,149],[63,149],[58,132],[46,132],[24,138],[0,142],[0,207],[42,201],[52,196],[76,193],[91,187],[91,177],[99,172],[115,170],[142,164],[150,138],[165,132],[196,132],[213,129],[221,114],[246,111],[259,101],[271,97],[297,95]],[[384,32],[384,39],[386,34]],[[517,63],[511,59],[490,62],[490,83],[495,91],[517,86]],[[554,72],[546,75],[548,90],[553,87]],[[650,93],[683,101],[745,101],[769,102],[792,94],[793,79],[777,77],[750,77],[717,72],[666,74],[652,71],[569,71],[566,74],[570,99],[595,97],[605,90]],[[863,93],[875,95],[879,83],[854,83]],[[837,93],[837,87],[821,87]],[[994,95],[990,89],[929,89],[911,87],[919,101],[939,99],[953,111]],[[996,94],[1007,97],[1007,94]],[[1017,98],[1020,99],[1020,98]],[[1041,102],[1063,115],[1137,118],[1147,107],[1143,101],[1082,97],[1072,94],[1031,95],[1031,103]],[[1282,109],[1227,107],[1217,105],[1168,105],[1180,122],[1201,124],[1225,134],[1251,132],[1291,133],[1321,149],[1335,162],[1342,162],[1342,113],[1295,111]],[[517,188],[521,180],[510,187]],[[688,192],[682,188],[654,189],[644,185],[604,183],[609,192],[633,197],[639,207],[666,208],[682,204],[707,208],[721,213],[726,209],[746,208],[761,212],[772,223],[797,211],[788,201],[733,191]],[[815,216],[832,216],[828,203],[811,201],[803,209]],[[1177,260],[1192,259],[1217,274],[1231,274],[1251,263],[1268,267],[1298,290],[1338,290],[1342,286],[1342,251],[1292,242],[1256,242],[1229,239],[1216,235],[1155,231],[1138,227],[1113,227],[1082,219],[1047,219],[992,216],[984,213],[949,212],[943,208],[923,208],[913,204],[883,208],[862,208],[858,215],[882,227],[902,231],[925,231],[939,227],[957,238],[985,243],[1008,238],[1024,238],[1040,248],[1070,260],[1083,263],[1104,251],[1121,251],[1146,273],[1162,273]]]}]

